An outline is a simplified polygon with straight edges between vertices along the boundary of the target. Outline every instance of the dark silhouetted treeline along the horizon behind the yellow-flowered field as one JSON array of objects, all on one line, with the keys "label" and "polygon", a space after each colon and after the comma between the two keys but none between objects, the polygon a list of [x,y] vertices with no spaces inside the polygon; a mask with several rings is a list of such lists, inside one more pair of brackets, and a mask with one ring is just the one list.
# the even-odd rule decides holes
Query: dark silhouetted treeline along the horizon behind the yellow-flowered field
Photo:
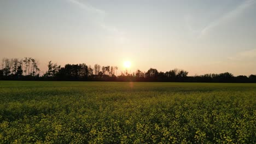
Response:
[{"label": "dark silhouetted treeline along the horizon behind the yellow-flowered field", "polygon": [[117,75],[118,67],[66,64],[61,67],[51,61],[48,63],[48,70],[40,75],[38,61],[34,58],[18,59],[3,58],[0,80],[42,80],[42,81],[150,81],[150,82],[256,82],[256,75],[234,76],[231,73],[205,74],[188,76],[188,71],[173,69],[158,71],[150,68],[147,72],[137,70],[133,73],[128,71]]}]

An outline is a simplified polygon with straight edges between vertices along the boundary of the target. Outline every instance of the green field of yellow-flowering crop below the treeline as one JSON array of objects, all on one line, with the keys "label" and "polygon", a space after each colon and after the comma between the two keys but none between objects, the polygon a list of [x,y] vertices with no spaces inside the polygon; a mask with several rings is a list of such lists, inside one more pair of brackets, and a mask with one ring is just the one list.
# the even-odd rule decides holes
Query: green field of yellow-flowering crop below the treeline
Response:
[{"label": "green field of yellow-flowering crop below the treeline", "polygon": [[256,143],[256,84],[0,81],[0,143]]}]

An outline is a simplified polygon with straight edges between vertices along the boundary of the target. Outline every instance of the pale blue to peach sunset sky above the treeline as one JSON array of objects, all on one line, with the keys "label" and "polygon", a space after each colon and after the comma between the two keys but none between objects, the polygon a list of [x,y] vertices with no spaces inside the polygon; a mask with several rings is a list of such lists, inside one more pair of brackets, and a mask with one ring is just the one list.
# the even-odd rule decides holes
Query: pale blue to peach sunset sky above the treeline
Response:
[{"label": "pale blue to peach sunset sky above the treeline", "polygon": [[0,58],[256,74],[256,0],[2,0]]}]

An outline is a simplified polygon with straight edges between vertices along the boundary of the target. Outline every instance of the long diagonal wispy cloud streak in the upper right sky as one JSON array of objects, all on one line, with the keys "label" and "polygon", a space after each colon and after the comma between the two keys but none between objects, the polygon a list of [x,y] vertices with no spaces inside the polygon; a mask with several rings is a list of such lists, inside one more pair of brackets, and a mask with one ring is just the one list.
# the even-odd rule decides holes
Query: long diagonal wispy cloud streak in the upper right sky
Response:
[{"label": "long diagonal wispy cloud streak in the upper right sky", "polygon": [[205,28],[203,28],[199,34],[199,37],[202,35],[205,35],[208,31],[210,31],[212,28],[221,25],[222,23],[229,21],[230,19],[234,19],[240,14],[243,13],[246,9],[251,7],[253,4],[255,4],[255,0],[247,0],[232,9],[231,11],[228,11],[227,13],[223,14],[223,16],[219,17],[218,19],[210,22]]}]

